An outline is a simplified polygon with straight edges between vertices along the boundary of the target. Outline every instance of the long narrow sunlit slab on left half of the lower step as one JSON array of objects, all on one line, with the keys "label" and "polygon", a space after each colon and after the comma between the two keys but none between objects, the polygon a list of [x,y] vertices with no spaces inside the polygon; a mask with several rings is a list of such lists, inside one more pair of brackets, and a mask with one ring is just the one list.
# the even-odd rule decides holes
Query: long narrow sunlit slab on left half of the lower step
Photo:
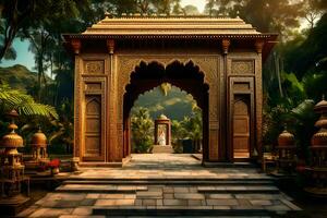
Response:
[{"label": "long narrow sunlit slab on left half of the lower step", "polygon": [[57,187],[56,191],[80,193],[136,193],[136,191],[147,191],[147,186],[110,184],[63,184]]}]

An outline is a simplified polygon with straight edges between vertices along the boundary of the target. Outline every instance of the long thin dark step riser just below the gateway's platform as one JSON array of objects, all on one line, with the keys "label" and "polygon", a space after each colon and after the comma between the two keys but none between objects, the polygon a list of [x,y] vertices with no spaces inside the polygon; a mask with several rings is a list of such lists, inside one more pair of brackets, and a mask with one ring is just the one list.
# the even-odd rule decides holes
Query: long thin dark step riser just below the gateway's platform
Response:
[{"label": "long thin dark step riser just below the gateway's platform", "polygon": [[242,184],[242,185],[272,185],[275,184],[274,180],[166,180],[166,181],[158,181],[158,180],[133,180],[133,181],[125,181],[125,180],[66,180],[63,184],[204,184],[204,185],[216,185],[216,184]]}]

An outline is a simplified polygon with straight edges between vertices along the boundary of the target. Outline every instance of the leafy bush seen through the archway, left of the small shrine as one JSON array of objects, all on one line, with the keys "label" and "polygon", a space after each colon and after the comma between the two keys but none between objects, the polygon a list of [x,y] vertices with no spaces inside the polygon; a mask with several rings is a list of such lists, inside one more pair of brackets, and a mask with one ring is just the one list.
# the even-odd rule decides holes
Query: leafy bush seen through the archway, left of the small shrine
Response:
[{"label": "leafy bush seen through the archway, left of the small shrine", "polygon": [[133,153],[148,153],[154,144],[154,122],[146,108],[136,108],[131,116]]}]

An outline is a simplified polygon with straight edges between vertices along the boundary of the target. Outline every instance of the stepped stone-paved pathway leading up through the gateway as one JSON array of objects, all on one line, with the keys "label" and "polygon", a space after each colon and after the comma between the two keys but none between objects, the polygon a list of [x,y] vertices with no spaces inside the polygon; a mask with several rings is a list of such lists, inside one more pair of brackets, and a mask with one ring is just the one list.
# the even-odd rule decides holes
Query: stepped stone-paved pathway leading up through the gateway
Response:
[{"label": "stepped stone-paved pathway leading up through the gateway", "polygon": [[85,168],[20,217],[271,217],[301,209],[254,168],[204,168],[190,155],[134,155]]}]

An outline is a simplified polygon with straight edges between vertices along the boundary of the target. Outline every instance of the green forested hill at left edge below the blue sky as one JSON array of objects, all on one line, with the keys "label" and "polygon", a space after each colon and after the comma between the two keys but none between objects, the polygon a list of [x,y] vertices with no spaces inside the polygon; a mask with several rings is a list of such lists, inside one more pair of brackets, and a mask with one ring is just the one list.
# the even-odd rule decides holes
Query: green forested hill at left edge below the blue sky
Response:
[{"label": "green forested hill at left edge below the blue sky", "polygon": [[0,78],[7,82],[12,88],[26,90],[37,82],[37,73],[29,71],[24,65],[13,65],[9,68],[0,66]]}]

